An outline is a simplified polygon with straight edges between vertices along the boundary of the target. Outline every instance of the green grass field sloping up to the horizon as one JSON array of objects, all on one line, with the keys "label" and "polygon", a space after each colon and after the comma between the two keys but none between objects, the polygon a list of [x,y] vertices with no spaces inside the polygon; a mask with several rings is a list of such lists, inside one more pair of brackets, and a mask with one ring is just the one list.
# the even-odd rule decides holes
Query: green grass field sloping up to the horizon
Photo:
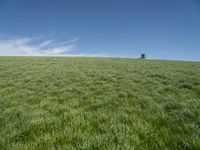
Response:
[{"label": "green grass field sloping up to the horizon", "polygon": [[200,149],[200,63],[0,57],[0,149]]}]

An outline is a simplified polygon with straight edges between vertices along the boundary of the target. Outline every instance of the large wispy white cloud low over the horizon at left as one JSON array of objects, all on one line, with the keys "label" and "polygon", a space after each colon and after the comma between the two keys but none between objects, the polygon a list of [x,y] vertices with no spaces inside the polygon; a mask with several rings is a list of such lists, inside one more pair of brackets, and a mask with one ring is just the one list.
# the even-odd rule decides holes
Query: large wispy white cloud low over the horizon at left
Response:
[{"label": "large wispy white cloud low over the horizon at left", "polygon": [[1,37],[0,56],[65,56],[76,49],[79,38],[57,41],[50,36],[46,39],[30,37]]}]

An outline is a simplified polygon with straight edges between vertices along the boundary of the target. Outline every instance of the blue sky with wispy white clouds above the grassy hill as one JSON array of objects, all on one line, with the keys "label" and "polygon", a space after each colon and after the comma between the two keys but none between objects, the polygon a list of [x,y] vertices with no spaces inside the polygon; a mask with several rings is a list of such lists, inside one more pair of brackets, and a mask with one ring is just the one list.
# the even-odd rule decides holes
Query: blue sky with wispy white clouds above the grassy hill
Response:
[{"label": "blue sky with wispy white clouds above the grassy hill", "polygon": [[200,0],[0,0],[0,55],[200,61]]}]

